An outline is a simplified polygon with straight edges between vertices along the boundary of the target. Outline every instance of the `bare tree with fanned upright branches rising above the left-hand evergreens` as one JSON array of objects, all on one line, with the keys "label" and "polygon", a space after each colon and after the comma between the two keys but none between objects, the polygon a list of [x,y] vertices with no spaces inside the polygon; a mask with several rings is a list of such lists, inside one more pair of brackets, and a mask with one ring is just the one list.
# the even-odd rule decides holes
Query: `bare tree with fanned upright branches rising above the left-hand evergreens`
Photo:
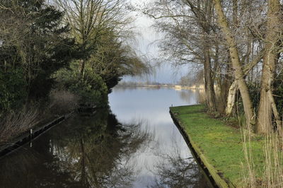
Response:
[{"label": "bare tree with fanned upright branches rising above the left-hand evergreens", "polygon": [[86,61],[98,48],[103,35],[128,35],[127,24],[132,21],[125,15],[122,0],[54,0],[65,12],[71,33],[81,47],[80,74],[83,79]]}]

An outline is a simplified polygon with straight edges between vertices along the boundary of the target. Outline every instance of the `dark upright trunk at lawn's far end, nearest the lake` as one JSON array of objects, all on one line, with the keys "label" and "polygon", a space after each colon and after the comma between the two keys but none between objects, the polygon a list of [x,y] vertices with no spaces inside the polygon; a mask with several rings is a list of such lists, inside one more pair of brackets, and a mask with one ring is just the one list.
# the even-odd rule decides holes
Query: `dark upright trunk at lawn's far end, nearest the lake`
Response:
[{"label": "dark upright trunk at lawn's far end, nearest the lake", "polygon": [[214,92],[214,82],[212,81],[212,66],[209,54],[209,46],[204,42],[204,88],[207,97],[209,111],[216,111],[216,100]]}]

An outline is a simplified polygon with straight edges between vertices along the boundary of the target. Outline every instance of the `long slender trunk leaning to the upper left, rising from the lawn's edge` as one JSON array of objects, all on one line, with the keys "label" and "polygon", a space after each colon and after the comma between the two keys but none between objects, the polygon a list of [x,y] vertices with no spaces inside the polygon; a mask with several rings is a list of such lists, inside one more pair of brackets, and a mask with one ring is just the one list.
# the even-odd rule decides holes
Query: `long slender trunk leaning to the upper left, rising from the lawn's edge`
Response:
[{"label": "long slender trunk leaning to the upper left, rising from the lawn's edge", "polygon": [[243,100],[243,108],[246,116],[246,126],[248,128],[253,128],[255,124],[255,116],[253,113],[253,104],[250,100],[250,94],[248,93],[248,86],[243,78],[243,70],[240,63],[240,58],[238,56],[238,49],[236,46],[236,41],[231,33],[229,25],[227,23],[226,17],[222,10],[220,0],[214,0],[216,13],[218,16],[218,22],[221,27],[222,32],[224,33],[227,44],[229,45],[229,52],[231,56],[231,62],[234,69],[234,76],[238,83],[238,88],[241,93]]}]

